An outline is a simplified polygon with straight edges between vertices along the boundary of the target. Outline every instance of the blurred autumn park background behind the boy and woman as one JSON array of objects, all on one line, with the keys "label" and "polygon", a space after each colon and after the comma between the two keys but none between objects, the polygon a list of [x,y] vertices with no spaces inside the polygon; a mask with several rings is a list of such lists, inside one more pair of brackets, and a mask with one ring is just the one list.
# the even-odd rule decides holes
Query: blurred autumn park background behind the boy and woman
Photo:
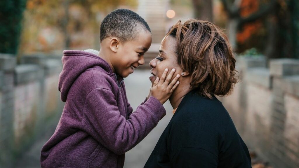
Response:
[{"label": "blurred autumn park background behind the boy and woman", "polygon": [[[58,91],[62,51],[100,49],[100,23],[127,8],[152,30],[145,65],[125,79],[133,109],[147,96],[149,61],[179,19],[208,20],[227,33],[239,83],[219,97],[251,152],[254,168],[299,167],[298,0],[2,0],[0,12],[0,167],[40,167],[42,146],[64,104]],[[143,167],[172,117],[126,153]]]}]

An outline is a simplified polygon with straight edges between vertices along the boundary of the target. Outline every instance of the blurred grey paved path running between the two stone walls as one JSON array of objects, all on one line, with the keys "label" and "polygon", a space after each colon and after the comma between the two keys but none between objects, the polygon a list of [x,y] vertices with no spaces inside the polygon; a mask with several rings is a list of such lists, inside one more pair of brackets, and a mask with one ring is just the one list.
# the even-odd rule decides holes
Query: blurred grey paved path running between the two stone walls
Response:
[{"label": "blurred grey paved path running between the two stone walls", "polygon": [[[128,100],[134,110],[141,102],[143,102],[149,93],[149,76],[149,70],[136,70],[133,74],[125,79]],[[124,165],[125,168],[141,168],[144,166],[160,135],[172,117],[173,109],[170,106],[169,101],[164,104],[164,107],[167,111],[166,116],[158,123],[155,129],[153,129],[149,135],[141,141],[141,143],[126,153]],[[55,131],[57,123],[54,123],[51,129],[46,132],[46,135],[39,138],[39,140],[33,144],[30,150],[28,150],[21,158],[18,159],[15,166],[16,168],[40,167],[40,150]]]}]

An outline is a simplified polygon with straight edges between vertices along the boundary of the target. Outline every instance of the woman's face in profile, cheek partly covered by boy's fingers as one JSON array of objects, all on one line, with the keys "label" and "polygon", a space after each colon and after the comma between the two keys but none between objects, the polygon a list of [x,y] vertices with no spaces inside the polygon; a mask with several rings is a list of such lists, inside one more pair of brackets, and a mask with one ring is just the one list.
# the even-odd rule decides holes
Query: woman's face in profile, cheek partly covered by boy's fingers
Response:
[{"label": "woman's face in profile, cheek partly covered by boy's fingers", "polygon": [[166,68],[168,68],[168,72],[170,72],[172,68],[176,69],[176,72],[171,80],[173,80],[176,74],[181,74],[182,68],[178,64],[178,56],[175,52],[176,39],[174,37],[167,36],[164,40],[162,40],[158,57],[149,62],[149,66],[152,67],[152,76],[149,77],[149,80],[152,84],[155,82],[157,77],[159,77],[159,79],[161,78],[163,71]]}]

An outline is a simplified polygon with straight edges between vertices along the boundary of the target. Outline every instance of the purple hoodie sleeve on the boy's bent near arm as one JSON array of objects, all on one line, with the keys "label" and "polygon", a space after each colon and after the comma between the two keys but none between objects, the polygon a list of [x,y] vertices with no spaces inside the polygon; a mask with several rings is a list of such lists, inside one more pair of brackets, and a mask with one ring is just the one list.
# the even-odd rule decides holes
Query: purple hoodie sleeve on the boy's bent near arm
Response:
[{"label": "purple hoodie sleeve on the boy's bent near arm", "polygon": [[96,88],[86,97],[82,127],[107,149],[120,155],[137,145],[165,114],[162,104],[150,97],[126,120],[120,115],[112,91]]}]

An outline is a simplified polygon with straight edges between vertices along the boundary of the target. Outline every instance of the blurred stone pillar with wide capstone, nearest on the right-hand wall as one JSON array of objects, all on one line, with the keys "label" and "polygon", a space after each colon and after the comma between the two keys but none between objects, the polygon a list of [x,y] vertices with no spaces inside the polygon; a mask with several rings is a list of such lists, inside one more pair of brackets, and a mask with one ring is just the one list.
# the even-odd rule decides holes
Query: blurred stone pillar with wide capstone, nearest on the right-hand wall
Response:
[{"label": "blurred stone pillar with wide capstone, nearest on the right-hand wall", "polygon": [[270,127],[271,141],[269,143],[271,143],[272,148],[270,149],[269,158],[275,167],[294,166],[294,163],[288,161],[289,156],[286,155],[287,148],[284,138],[284,132],[286,131],[286,108],[283,88],[285,85],[284,78],[296,74],[299,74],[299,60],[273,59],[270,61],[272,105]]}]

